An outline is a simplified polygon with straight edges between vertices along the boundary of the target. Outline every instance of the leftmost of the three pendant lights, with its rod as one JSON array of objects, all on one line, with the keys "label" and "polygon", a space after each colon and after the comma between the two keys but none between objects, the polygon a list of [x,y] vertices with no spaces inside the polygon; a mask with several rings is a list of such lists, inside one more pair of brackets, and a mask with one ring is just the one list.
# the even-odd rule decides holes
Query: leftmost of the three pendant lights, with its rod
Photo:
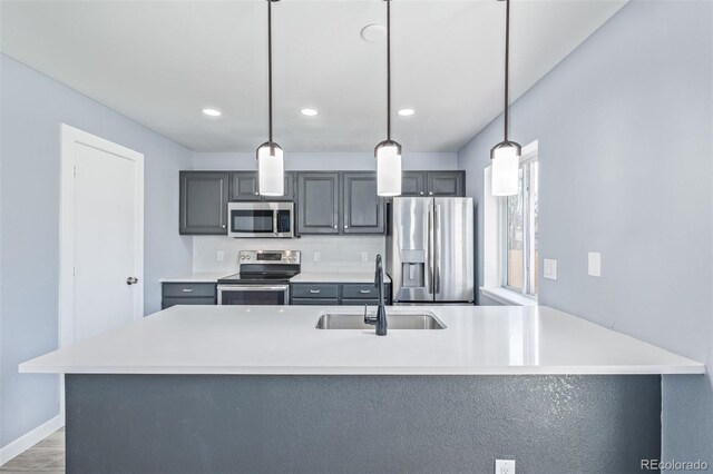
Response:
[{"label": "leftmost of the three pendant lights, with its rod", "polygon": [[267,141],[257,148],[258,189],[263,196],[282,196],[285,186],[284,154],[272,139],[272,2],[267,0]]}]

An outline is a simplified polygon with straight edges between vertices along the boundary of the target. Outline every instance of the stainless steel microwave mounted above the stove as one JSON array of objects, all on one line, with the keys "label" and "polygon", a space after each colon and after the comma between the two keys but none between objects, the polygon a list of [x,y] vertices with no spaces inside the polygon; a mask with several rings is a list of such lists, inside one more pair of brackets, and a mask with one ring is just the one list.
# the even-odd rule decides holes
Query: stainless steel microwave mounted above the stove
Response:
[{"label": "stainless steel microwave mounted above the stove", "polygon": [[294,203],[228,203],[228,237],[294,237]]}]

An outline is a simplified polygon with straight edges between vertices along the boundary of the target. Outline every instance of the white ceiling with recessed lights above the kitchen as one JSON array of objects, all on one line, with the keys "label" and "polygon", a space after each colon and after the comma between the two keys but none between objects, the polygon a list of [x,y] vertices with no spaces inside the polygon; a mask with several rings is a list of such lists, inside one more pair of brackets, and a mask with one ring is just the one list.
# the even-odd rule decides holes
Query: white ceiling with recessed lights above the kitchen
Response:
[{"label": "white ceiling with recessed lights above the kitchen", "polygon": [[[512,2],[519,97],[626,3]],[[392,2],[393,138],[456,151],[501,112],[505,3]],[[384,2],[273,4],[275,140],[289,151],[369,151],[385,135]],[[266,139],[266,2],[2,1],[2,51],[199,151]],[[205,117],[204,107],[223,111]],[[313,118],[300,109],[320,111]]]}]

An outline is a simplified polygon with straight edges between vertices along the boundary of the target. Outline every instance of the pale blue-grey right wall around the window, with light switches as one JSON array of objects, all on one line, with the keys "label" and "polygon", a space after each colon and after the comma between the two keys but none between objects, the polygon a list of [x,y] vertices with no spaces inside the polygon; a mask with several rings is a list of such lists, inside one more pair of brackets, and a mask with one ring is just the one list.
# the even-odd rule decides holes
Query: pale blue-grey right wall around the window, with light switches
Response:
[{"label": "pale blue-grey right wall around the window, with light switches", "polygon": [[[511,138],[539,140],[540,257],[558,261],[540,303],[709,367],[712,24],[711,1],[632,1],[511,108]],[[476,200],[500,134],[501,118],[459,152]],[[602,253],[602,278],[587,251]],[[664,377],[664,458],[711,464],[711,433],[710,378]]]}]

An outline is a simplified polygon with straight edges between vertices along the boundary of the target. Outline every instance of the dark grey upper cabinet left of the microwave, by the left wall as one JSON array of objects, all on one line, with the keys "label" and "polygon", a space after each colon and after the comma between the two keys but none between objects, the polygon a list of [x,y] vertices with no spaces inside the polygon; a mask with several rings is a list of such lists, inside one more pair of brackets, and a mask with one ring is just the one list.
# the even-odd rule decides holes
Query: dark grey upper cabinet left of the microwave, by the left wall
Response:
[{"label": "dark grey upper cabinet left of the microwave, by the left wall", "polygon": [[226,235],[228,174],[180,171],[179,234]]}]

